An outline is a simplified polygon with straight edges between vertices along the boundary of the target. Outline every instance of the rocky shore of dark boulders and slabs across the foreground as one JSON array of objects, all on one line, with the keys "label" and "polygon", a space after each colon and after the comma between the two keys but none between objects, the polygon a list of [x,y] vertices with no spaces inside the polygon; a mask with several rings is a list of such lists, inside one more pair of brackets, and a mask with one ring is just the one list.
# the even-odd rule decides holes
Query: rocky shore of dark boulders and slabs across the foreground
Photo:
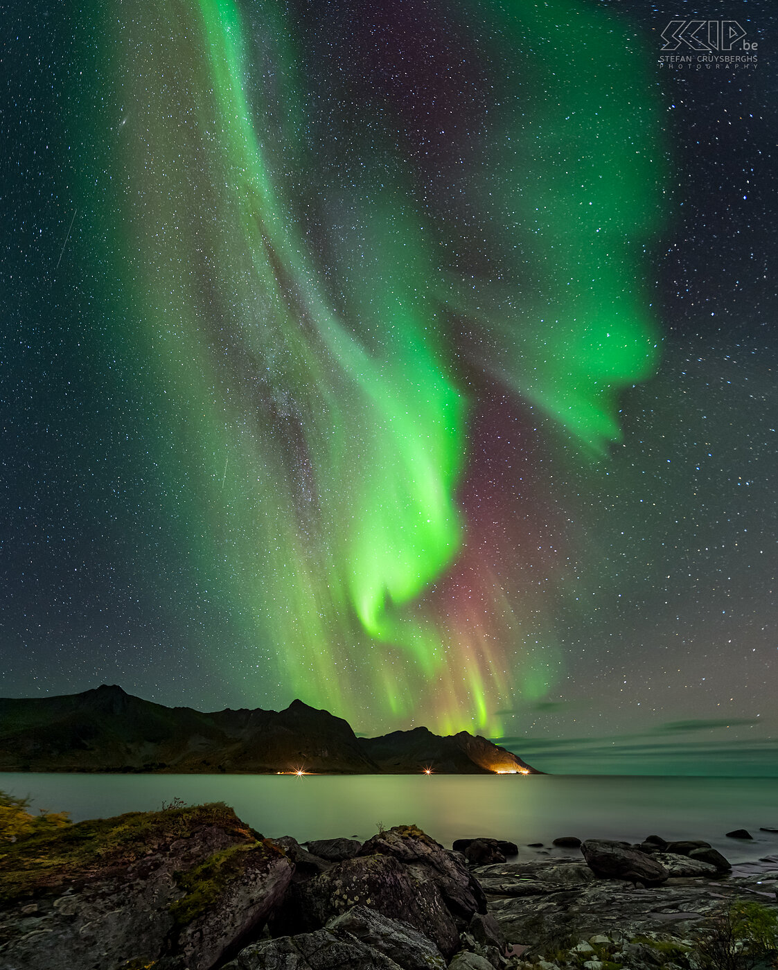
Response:
[{"label": "rocky shore of dark boulders and slabs across the foreground", "polygon": [[776,907],[778,857],[732,875],[700,842],[455,848],[414,825],[302,846],[220,804],[42,832],[0,850],[0,967],[698,970],[733,900]]}]

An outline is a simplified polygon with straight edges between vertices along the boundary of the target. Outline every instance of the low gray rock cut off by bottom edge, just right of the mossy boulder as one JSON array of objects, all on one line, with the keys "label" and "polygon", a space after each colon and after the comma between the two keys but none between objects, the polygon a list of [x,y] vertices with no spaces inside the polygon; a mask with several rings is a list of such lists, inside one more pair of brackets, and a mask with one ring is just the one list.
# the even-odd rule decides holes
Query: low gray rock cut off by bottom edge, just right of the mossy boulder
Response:
[{"label": "low gray rock cut off by bottom edge, just right of the mossy boulder", "polygon": [[232,965],[237,970],[403,970],[350,934],[329,929],[251,944]]}]

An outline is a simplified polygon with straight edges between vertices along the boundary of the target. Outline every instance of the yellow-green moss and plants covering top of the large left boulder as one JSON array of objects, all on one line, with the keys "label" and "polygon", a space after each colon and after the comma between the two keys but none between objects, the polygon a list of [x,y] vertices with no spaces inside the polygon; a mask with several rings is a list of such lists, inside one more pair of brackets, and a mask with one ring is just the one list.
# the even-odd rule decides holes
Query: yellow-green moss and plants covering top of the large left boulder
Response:
[{"label": "yellow-green moss and plants covering top of the large left boulder", "polygon": [[107,875],[207,825],[251,845],[258,837],[223,802],[43,826],[0,847],[0,902]]}]

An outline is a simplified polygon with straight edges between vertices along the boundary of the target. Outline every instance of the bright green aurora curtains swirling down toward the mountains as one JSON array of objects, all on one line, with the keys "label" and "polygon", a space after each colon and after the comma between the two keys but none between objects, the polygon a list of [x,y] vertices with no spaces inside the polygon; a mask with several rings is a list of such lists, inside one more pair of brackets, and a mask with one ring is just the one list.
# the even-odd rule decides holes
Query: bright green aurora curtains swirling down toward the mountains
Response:
[{"label": "bright green aurora curtains swirling down toward the mountains", "polygon": [[618,392],[657,366],[636,282],[664,180],[645,55],[582,2],[441,6],[477,35],[490,93],[431,194],[402,106],[358,57],[342,66],[370,33],[288,11],[136,0],[100,31],[113,302],[166,431],[180,543],[229,617],[214,669],[230,675],[236,636],[257,693],[498,733],[496,711],[548,689],[529,644],[557,634],[486,562],[478,597],[436,598],[478,546],[468,374],[542,411],[581,462],[618,440]]}]

